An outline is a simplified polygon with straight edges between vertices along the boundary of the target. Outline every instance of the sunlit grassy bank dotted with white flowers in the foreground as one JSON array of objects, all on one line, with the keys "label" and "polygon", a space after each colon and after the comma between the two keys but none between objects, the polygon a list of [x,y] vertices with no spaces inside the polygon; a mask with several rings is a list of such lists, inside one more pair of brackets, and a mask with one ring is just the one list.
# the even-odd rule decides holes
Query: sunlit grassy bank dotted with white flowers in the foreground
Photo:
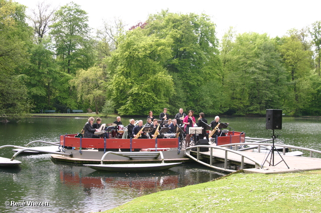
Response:
[{"label": "sunlit grassy bank dotted with white flowers in the foreground", "polygon": [[137,197],[104,212],[320,212],[321,170],[236,173]]}]

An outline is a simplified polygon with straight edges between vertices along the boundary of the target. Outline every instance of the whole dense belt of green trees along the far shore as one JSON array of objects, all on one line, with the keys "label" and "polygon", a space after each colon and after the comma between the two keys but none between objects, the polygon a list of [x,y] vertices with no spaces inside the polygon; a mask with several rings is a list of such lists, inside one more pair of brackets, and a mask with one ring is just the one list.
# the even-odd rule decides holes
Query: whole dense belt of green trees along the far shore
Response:
[{"label": "whole dense belt of green trees along the far shore", "polygon": [[[321,21],[282,37],[232,28],[219,41],[205,14],[161,11],[91,34],[75,3],[39,3],[29,16],[0,0],[0,113],[95,108],[121,115],[167,107],[206,115],[321,115]],[[267,32],[268,33],[268,32]]]}]

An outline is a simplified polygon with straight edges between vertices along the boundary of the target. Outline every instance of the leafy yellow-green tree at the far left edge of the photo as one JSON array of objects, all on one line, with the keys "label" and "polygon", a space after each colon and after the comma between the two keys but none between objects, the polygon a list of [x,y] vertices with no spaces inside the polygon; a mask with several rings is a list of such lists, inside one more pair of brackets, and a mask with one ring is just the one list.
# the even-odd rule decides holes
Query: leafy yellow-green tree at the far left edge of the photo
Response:
[{"label": "leafy yellow-green tree at the far left edge of the photo", "polygon": [[19,75],[29,63],[26,43],[30,42],[30,28],[24,18],[24,6],[0,0],[0,113],[5,119],[25,116],[32,108]]}]

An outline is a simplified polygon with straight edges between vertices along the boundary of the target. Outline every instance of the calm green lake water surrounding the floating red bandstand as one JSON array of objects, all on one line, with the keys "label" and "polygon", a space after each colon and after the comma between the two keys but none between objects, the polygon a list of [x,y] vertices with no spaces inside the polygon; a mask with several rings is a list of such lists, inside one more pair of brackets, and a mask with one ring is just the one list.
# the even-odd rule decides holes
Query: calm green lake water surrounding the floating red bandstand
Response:
[{"label": "calm green lake water surrounding the floating red bandstand", "polygon": [[[137,118],[136,118],[137,119]],[[141,118],[145,121],[145,117]],[[207,118],[210,123],[214,118]],[[103,118],[102,123],[115,119]],[[122,118],[127,125],[129,118]],[[87,118],[27,118],[0,123],[0,145],[25,145],[33,140],[58,141],[60,134],[80,132]],[[265,117],[221,117],[246,136],[271,138]],[[286,144],[321,150],[321,120],[283,117],[275,130]],[[0,149],[11,158],[11,148]],[[308,153],[304,153],[308,156]],[[54,163],[50,154],[19,155],[19,168],[0,168],[1,212],[97,212],[121,205],[135,197],[213,180],[223,173],[195,163],[158,172],[101,172],[77,164]],[[316,157],[321,157],[315,155]],[[6,206],[6,201],[44,201],[49,206]]]}]

